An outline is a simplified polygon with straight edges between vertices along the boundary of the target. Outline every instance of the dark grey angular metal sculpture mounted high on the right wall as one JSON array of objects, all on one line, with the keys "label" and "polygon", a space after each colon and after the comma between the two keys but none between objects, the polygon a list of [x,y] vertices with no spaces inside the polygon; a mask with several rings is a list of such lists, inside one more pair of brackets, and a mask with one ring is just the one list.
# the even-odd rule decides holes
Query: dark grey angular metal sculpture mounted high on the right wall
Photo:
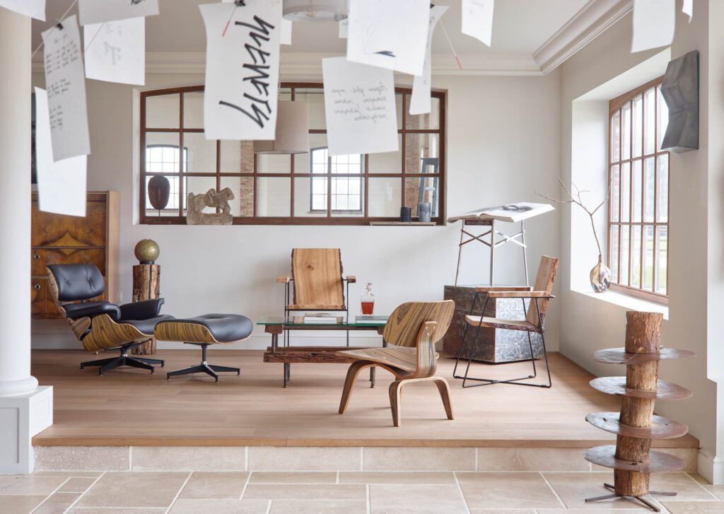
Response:
[{"label": "dark grey angular metal sculpture mounted high on the right wall", "polygon": [[661,94],[669,108],[662,149],[675,153],[699,148],[699,51],[670,61]]}]

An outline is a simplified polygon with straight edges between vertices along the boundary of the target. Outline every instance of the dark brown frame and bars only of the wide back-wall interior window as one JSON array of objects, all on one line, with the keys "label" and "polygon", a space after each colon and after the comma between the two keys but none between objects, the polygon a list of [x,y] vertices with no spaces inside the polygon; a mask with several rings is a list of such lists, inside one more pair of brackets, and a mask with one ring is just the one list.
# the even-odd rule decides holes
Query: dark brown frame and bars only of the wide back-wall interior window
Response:
[{"label": "dark brown frame and bars only of the wide back-wall interior window", "polygon": [[[291,91],[291,100],[295,99],[295,91],[298,89],[313,89],[323,88],[321,83],[302,83],[302,82],[287,82],[281,83],[280,88],[289,89]],[[446,205],[445,205],[445,188],[446,188],[446,171],[447,171],[447,91],[446,90],[432,90],[432,98],[437,98],[439,101],[439,123],[435,129],[418,129],[408,128],[408,119],[411,118],[410,114],[407,113],[408,104],[412,94],[411,88],[395,87],[395,95],[402,95],[402,123],[400,128],[397,129],[397,133],[402,139],[400,146],[400,172],[397,173],[373,173],[369,171],[369,154],[363,154],[363,174],[361,179],[363,180],[363,205],[362,212],[363,216],[339,216],[336,215],[338,211],[332,210],[332,195],[330,194],[330,188],[332,187],[332,180],[327,180],[327,216],[295,216],[294,213],[294,184],[296,178],[311,177],[313,174],[311,170],[309,173],[295,173],[294,170],[294,158],[290,156],[290,172],[289,173],[258,173],[257,169],[257,157],[254,156],[254,167],[253,172],[247,173],[228,173],[221,172],[221,142],[216,141],[216,171],[210,173],[199,173],[192,172],[188,173],[185,169],[179,169],[176,173],[180,177],[180,188],[179,188],[179,211],[177,216],[156,216],[153,211],[146,211],[146,178],[150,175],[146,172],[146,137],[149,132],[169,132],[179,135],[179,146],[184,146],[184,134],[189,132],[199,132],[203,134],[201,128],[185,128],[184,127],[184,93],[197,93],[203,92],[203,85],[188,86],[182,88],[164,88],[158,90],[142,91],[140,93],[140,184],[139,194],[140,201],[139,205],[139,220],[140,224],[185,224],[186,217],[182,216],[183,198],[187,194],[182,184],[186,177],[215,177],[216,178],[216,189],[221,188],[221,181],[223,177],[253,177],[253,216],[235,216],[233,224],[235,225],[246,225],[246,224],[268,224],[268,225],[369,225],[371,222],[396,222],[399,221],[398,216],[369,216],[369,180],[370,178],[397,178],[400,180],[400,205],[405,206],[405,185],[409,178],[419,179],[421,177],[431,177],[430,174],[421,174],[419,172],[408,172],[406,169],[406,153],[405,153],[405,142],[407,136],[413,134],[435,134],[438,135],[439,148],[439,174],[438,174],[438,215],[432,218],[432,222],[437,225],[446,224]],[[179,95],[179,122],[177,128],[163,128],[163,127],[147,127],[146,126],[146,101],[148,98],[153,96],[166,96],[166,95]],[[326,129],[310,129],[310,134],[326,134]],[[182,164],[180,164],[182,168]],[[161,174],[161,173],[156,173]],[[347,175],[345,175],[347,176]],[[257,216],[257,195],[256,188],[257,182],[260,178],[274,178],[283,177],[290,180],[290,216]],[[331,174],[326,174],[326,177],[332,177]],[[347,176],[348,177],[348,176]],[[240,193],[235,191],[235,194]],[[414,206],[413,206],[414,207]],[[413,212],[416,209],[413,208]],[[345,214],[345,213],[340,213]],[[352,214],[352,213],[350,213]],[[413,217],[413,221],[415,218]]]}]

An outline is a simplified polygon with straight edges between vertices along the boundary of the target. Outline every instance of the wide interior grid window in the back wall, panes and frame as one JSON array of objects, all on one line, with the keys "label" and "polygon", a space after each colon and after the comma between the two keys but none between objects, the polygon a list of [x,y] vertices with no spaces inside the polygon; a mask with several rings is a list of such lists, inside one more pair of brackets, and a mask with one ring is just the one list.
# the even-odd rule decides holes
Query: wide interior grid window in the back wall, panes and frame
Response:
[{"label": "wide interior grid window in the back wall, panes and frame", "polygon": [[[203,86],[143,91],[140,95],[140,221],[184,224],[188,193],[230,188],[234,224],[369,224],[413,218],[421,201],[445,223],[445,93],[432,93],[430,114],[408,114],[411,90],[395,88],[399,150],[329,156],[324,88],[282,83],[280,101],[308,106],[310,153],[254,154],[252,141],[206,140]],[[404,113],[404,114],[403,114]],[[184,149],[183,159],[178,148]],[[164,175],[172,198],[160,213],[146,184]]]}]

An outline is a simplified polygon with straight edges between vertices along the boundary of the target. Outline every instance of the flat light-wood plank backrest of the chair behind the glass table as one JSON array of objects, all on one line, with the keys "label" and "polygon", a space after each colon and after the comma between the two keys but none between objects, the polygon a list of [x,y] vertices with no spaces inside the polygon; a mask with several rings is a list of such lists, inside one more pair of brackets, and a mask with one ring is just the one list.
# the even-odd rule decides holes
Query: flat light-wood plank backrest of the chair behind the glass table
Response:
[{"label": "flat light-wood plank backrest of the chair behind the glass table", "polygon": [[342,253],[339,248],[294,248],[292,278],[296,306],[344,308]]}]

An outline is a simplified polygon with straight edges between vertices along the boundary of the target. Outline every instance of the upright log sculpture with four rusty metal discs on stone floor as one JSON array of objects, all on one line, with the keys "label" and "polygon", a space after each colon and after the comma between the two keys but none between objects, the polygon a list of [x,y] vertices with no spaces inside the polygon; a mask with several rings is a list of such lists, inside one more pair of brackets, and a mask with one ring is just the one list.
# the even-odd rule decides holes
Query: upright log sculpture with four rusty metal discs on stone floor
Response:
[{"label": "upright log sculpture with four rusty metal discs on stone floor", "polygon": [[662,416],[654,416],[655,400],[683,400],[691,391],[658,379],[659,361],[694,356],[688,350],[661,348],[662,314],[626,313],[626,346],[594,353],[594,359],[607,364],[625,364],[626,376],[605,376],[591,386],[609,395],[623,397],[620,413],[594,413],[586,416],[593,426],[616,434],[616,444],[597,446],[585,453],[591,463],[613,468],[613,485],[604,484],[613,494],[586,499],[586,502],[625,497],[639,500],[656,512],[660,509],[644,499],[646,494],[674,496],[675,492],[649,491],[649,474],[677,471],[683,460],[651,450],[652,439],[673,439],[689,427]]}]

